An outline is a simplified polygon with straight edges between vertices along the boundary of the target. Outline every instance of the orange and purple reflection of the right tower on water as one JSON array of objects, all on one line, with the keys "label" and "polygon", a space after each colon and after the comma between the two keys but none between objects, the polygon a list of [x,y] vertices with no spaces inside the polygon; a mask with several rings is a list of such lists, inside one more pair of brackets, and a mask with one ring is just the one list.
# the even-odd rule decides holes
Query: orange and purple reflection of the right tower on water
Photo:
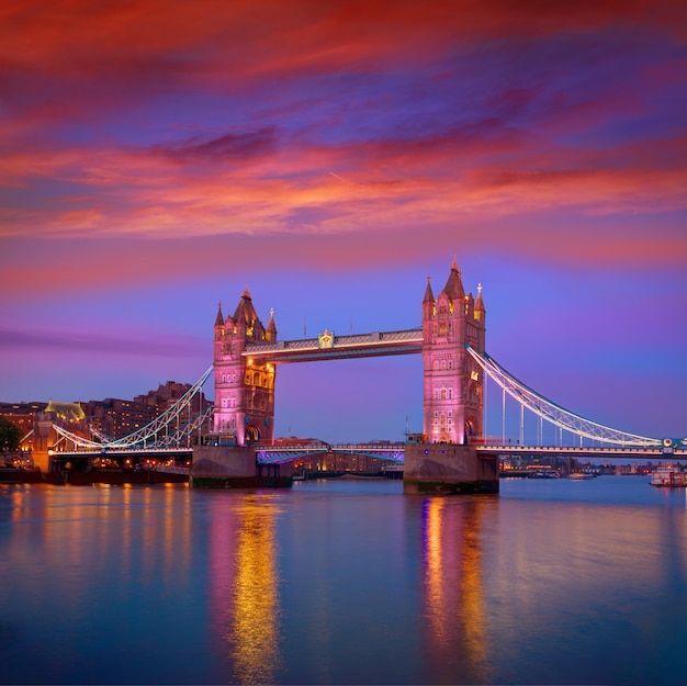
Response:
[{"label": "orange and purple reflection of the right tower on water", "polygon": [[423,503],[423,562],[428,682],[460,675],[488,682],[486,610],[482,583],[484,498],[433,497]]}]

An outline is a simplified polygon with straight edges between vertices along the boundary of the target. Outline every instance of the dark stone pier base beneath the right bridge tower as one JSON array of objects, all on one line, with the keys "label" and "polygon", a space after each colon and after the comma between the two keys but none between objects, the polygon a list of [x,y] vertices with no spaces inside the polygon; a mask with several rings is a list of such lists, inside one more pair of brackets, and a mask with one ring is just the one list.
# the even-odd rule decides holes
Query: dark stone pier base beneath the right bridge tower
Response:
[{"label": "dark stone pier base beneath the right bridge tower", "polygon": [[474,446],[407,443],[404,493],[498,493],[498,458]]}]

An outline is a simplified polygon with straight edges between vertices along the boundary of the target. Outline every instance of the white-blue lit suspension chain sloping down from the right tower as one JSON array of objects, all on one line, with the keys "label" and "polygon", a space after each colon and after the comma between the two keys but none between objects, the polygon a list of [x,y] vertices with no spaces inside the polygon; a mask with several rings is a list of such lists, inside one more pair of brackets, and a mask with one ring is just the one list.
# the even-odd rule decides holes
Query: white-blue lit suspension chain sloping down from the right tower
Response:
[{"label": "white-blue lit suspension chain sloping down from the right tower", "polygon": [[620,431],[592,421],[590,419],[585,419],[532,391],[498,364],[498,362],[486,352],[481,355],[469,345],[465,345],[465,349],[485,374],[495,381],[508,395],[514,397],[521,406],[527,407],[542,419],[545,419],[561,429],[565,429],[583,438],[616,446],[655,447],[661,445],[661,439],[658,438],[647,438],[645,436]]}]

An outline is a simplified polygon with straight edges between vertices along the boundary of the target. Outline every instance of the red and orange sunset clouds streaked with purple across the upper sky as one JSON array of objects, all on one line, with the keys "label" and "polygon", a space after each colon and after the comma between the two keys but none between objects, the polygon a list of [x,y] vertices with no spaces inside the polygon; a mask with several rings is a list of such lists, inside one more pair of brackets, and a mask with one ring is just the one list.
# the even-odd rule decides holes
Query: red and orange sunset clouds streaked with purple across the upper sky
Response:
[{"label": "red and orange sunset clouds streaked with purple across the upper sky", "polygon": [[[4,3],[0,239],[230,238],[249,255],[244,241],[264,238],[268,254],[290,240],[335,263],[371,259],[362,236],[407,259],[426,249],[418,235],[471,246],[481,226],[503,249],[554,254],[562,224],[684,213],[682,13],[640,1]],[[684,260],[671,226],[646,226],[613,254]],[[611,254],[619,233],[599,244],[583,230],[571,254]],[[143,255],[117,259],[143,273],[147,244]],[[115,278],[97,263],[43,268]],[[33,266],[3,274],[25,269],[43,283]]]}]

